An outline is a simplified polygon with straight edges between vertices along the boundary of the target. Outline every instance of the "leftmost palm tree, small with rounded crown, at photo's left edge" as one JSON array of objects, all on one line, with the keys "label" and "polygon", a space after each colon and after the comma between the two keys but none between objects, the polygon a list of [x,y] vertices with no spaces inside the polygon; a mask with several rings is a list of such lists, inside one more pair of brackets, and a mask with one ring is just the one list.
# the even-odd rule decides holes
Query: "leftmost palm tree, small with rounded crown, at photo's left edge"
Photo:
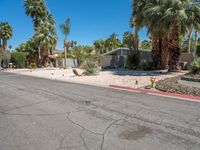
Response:
[{"label": "leftmost palm tree, small with rounded crown, at photo's left edge", "polygon": [[3,41],[3,51],[7,50],[7,41],[13,36],[13,28],[8,22],[0,23],[0,40]]}]

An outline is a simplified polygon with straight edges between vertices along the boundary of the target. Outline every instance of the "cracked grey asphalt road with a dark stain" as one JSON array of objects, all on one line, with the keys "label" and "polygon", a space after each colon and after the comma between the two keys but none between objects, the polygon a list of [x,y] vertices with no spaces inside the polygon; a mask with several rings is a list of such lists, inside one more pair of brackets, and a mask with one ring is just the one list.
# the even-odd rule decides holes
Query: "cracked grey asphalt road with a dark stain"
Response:
[{"label": "cracked grey asphalt road with a dark stain", "polygon": [[0,150],[200,150],[200,103],[0,72]]}]

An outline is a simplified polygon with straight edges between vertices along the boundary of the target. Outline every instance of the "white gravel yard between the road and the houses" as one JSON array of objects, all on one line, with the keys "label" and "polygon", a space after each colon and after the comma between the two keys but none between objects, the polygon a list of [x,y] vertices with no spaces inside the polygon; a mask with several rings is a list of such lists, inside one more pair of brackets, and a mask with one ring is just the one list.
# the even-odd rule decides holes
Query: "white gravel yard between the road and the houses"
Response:
[{"label": "white gravel yard between the road and the houses", "polygon": [[[77,69],[79,73],[83,71]],[[40,78],[47,78],[52,80],[61,80],[75,83],[82,83],[88,85],[97,85],[97,86],[110,86],[110,85],[119,85],[119,86],[128,86],[132,88],[141,88],[147,85],[150,85],[150,78],[155,77],[156,81],[179,76],[185,74],[186,72],[173,73],[161,75],[152,71],[130,71],[125,69],[116,69],[101,71],[97,76],[81,76],[77,77],[73,74],[72,69],[16,69],[16,70],[7,70],[6,72],[16,73],[21,75],[35,76]],[[138,81],[138,84],[136,84]]]}]

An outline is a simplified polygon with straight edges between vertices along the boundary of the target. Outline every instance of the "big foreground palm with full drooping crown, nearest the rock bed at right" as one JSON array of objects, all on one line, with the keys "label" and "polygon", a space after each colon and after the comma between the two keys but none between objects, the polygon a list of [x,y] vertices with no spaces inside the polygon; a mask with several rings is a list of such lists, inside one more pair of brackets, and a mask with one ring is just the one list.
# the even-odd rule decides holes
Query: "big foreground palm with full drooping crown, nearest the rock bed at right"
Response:
[{"label": "big foreground palm with full drooping crown, nearest the rock bed at right", "polygon": [[200,24],[200,8],[188,0],[171,0],[167,5],[162,21],[166,29],[170,31],[168,43],[170,51],[169,71],[178,71],[181,53],[180,35],[185,34],[191,24],[193,26]]}]

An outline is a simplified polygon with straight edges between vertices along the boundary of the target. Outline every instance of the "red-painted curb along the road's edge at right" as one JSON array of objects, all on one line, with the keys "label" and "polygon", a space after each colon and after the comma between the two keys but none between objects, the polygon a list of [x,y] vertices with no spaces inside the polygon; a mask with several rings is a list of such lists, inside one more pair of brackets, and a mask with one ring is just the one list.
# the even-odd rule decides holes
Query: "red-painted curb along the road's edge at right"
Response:
[{"label": "red-painted curb along the road's edge at right", "polygon": [[151,91],[151,90],[145,90],[145,89],[135,89],[135,88],[131,88],[131,87],[118,86],[118,85],[110,85],[110,87],[117,88],[117,89],[136,91],[136,92],[163,95],[163,96],[171,96],[171,97],[175,97],[175,98],[190,99],[190,100],[193,100],[193,101],[199,101],[200,102],[200,96],[191,96],[191,95],[185,95],[185,94],[174,94],[174,93],[167,93],[167,92],[157,92],[157,91]]}]

